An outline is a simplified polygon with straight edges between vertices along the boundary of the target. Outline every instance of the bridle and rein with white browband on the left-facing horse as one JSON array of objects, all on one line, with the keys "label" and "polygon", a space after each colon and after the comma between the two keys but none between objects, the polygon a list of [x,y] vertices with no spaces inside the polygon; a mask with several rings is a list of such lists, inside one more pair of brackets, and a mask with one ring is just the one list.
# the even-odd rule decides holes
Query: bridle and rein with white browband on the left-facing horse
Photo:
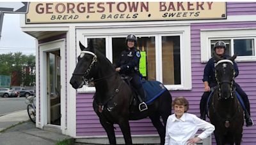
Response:
[{"label": "bridle and rein with white browband on the left-facing horse", "polygon": [[83,50],[83,51],[81,51],[80,57],[83,57],[84,54],[93,55],[92,62],[90,64],[90,66],[88,67],[88,69],[86,69],[86,71],[84,73],[73,73],[73,75],[82,76],[83,81],[84,81],[84,85],[93,86],[92,83],[90,83],[90,82],[101,81],[105,78],[108,78],[108,77],[113,76],[114,74],[116,74],[116,71],[115,71],[112,74],[110,74],[109,76],[104,76],[104,77],[99,78],[99,79],[93,79],[93,78],[88,79],[87,77],[88,77],[90,71],[92,70],[93,65],[95,64],[95,62],[97,62],[97,55],[95,55],[95,53],[93,53],[93,52]]}]

